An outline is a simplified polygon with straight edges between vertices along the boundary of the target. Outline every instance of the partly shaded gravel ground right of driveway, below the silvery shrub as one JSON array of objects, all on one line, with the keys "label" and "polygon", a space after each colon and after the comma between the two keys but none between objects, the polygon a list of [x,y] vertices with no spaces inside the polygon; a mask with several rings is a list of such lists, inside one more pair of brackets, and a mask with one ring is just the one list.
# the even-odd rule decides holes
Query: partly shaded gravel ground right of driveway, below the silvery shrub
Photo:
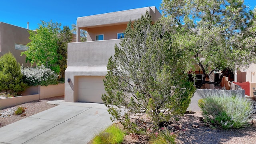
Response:
[{"label": "partly shaded gravel ground right of driveway, below the silvery shrub", "polygon": [[[184,114],[172,125],[177,144],[256,144],[256,128],[248,126],[241,129],[222,130],[206,126],[200,112]],[[125,136],[124,144],[148,144],[148,138],[140,136],[138,140]]]}]

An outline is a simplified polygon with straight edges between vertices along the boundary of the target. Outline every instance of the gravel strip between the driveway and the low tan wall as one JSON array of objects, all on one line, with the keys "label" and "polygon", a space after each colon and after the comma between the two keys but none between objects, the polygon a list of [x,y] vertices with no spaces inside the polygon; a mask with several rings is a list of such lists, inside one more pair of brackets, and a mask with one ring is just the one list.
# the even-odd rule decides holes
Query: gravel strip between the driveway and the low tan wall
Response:
[{"label": "gravel strip between the driveway and the low tan wall", "polygon": [[[56,105],[54,104],[47,104],[46,102],[48,102],[49,100],[57,100],[57,99],[63,99],[64,100],[64,96],[57,96],[57,97],[52,97],[52,98],[46,98],[46,99],[42,99],[42,100],[35,100],[35,101],[32,101],[32,102],[28,102],[28,103],[24,103],[24,104],[20,104],[18,106],[22,106],[23,108],[26,108],[25,109],[25,112],[23,114],[26,114],[26,116],[20,116],[20,115],[13,115],[11,117],[6,117],[6,118],[0,118],[0,128],[3,127],[3,126],[6,126],[8,124],[11,124],[13,122],[16,122],[18,120],[21,120],[23,118],[27,118],[29,116],[32,116],[38,112],[42,112],[44,110],[47,110],[49,108],[52,108]],[[13,107],[10,107],[10,108],[5,108],[5,109],[2,109],[0,110],[0,114],[2,112],[5,112],[6,110],[9,110],[11,108],[15,108],[15,107],[18,107],[18,106],[13,106]]]}]

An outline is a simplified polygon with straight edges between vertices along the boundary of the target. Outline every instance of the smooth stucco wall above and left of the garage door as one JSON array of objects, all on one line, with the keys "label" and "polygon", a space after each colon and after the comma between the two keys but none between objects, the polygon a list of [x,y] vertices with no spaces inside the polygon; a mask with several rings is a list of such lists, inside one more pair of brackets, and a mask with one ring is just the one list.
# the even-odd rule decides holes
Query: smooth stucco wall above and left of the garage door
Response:
[{"label": "smooth stucco wall above and left of the garage door", "polygon": [[[68,43],[68,67],[65,70],[65,101],[78,101],[78,76],[105,76],[108,58],[120,39]],[[70,78],[70,82],[67,82]]]}]

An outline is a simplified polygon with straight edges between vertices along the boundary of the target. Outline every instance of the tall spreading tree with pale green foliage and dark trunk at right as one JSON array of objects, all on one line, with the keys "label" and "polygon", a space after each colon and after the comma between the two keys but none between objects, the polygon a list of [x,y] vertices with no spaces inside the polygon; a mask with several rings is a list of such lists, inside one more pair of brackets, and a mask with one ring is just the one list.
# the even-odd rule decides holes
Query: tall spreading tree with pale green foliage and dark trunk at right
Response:
[{"label": "tall spreading tree with pale green foliage and dark trunk at right", "polygon": [[223,70],[225,74],[225,69],[234,70],[254,61],[254,48],[239,46],[254,15],[244,0],[163,0],[161,9],[172,47],[186,52],[184,60],[191,70],[202,70],[198,88],[205,83],[216,84],[206,81],[214,71]]}]

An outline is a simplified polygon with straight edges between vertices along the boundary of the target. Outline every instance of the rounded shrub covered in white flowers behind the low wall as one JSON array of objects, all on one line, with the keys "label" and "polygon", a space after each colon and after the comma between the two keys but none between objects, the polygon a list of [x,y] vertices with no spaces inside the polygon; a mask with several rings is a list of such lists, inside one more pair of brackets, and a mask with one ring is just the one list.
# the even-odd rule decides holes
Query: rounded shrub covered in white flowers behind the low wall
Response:
[{"label": "rounded shrub covered in white flowers behind the low wall", "polygon": [[29,86],[58,84],[58,75],[44,65],[35,68],[22,66],[21,73],[24,75],[24,82]]}]

